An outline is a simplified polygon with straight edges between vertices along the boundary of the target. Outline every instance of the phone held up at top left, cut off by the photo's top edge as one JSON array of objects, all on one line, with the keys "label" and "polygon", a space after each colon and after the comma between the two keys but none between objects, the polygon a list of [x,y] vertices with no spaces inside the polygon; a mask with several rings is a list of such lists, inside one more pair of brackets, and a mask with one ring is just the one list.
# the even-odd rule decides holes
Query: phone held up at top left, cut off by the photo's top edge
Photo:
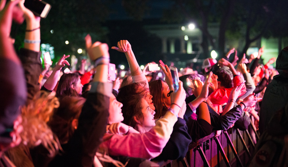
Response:
[{"label": "phone held up at top left, cut off by the photo's top edge", "polygon": [[51,9],[50,4],[39,0],[25,0],[24,6],[41,18],[46,18]]}]

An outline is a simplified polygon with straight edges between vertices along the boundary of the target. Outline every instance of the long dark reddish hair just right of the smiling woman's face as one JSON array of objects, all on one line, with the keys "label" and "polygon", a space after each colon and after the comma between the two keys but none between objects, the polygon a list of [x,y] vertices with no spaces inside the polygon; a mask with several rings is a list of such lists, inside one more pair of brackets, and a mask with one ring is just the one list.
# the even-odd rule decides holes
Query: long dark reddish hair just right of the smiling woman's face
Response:
[{"label": "long dark reddish hair just right of the smiling woman's face", "polygon": [[155,106],[155,119],[159,119],[164,116],[166,111],[168,111],[168,107],[164,104],[164,95],[162,89],[162,80],[154,80],[149,82],[150,94],[153,96],[153,104]]}]

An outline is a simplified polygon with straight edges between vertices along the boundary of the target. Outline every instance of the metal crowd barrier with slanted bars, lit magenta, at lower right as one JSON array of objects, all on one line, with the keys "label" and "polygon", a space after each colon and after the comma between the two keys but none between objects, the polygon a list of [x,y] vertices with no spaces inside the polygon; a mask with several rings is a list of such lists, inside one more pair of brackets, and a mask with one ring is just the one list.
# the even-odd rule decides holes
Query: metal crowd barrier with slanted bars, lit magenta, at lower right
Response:
[{"label": "metal crowd barrier with slanted bars, lit magenta, at lower right", "polygon": [[[256,140],[259,135],[250,124]],[[247,166],[253,155],[255,144],[248,130],[231,128],[223,131],[219,137],[214,133],[189,145],[186,157],[159,163],[160,166],[200,167],[200,166]]]}]

